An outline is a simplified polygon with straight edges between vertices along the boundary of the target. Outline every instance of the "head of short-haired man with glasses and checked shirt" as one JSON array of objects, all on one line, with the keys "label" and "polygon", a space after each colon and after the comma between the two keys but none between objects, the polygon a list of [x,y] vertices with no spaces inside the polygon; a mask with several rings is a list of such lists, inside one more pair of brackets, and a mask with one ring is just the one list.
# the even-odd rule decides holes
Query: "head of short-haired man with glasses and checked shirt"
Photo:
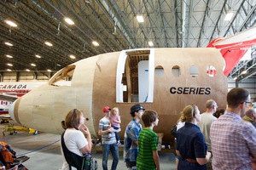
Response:
[{"label": "head of short-haired man with glasses and checked shirt", "polygon": [[231,110],[240,111],[241,115],[244,115],[247,111],[247,106],[252,105],[251,96],[249,92],[244,88],[233,88],[227,94],[228,107]]}]

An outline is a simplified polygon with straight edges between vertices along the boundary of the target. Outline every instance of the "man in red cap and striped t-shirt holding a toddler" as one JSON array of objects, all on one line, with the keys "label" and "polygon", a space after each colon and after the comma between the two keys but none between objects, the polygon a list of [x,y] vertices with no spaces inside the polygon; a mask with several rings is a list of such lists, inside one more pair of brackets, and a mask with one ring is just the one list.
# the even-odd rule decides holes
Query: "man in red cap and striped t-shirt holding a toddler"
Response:
[{"label": "man in red cap and striped t-shirt holding a toddler", "polygon": [[115,170],[119,163],[119,148],[116,144],[115,133],[110,125],[110,107],[103,108],[105,116],[100,120],[98,134],[102,135],[102,167],[103,170],[108,170],[108,153],[109,150],[113,156],[112,170]]}]

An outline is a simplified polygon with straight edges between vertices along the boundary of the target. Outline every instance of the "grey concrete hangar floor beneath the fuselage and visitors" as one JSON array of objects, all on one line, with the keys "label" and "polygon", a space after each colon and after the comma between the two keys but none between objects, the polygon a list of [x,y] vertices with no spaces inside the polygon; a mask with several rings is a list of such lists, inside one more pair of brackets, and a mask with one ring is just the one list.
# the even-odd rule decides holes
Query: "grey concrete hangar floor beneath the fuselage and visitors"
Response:
[{"label": "grey concrete hangar floor beneath the fuselage and visitors", "polygon": [[[26,155],[30,159],[23,164],[30,170],[59,170],[61,169],[63,157],[61,156],[60,135],[51,133],[39,133],[33,135],[27,132],[18,132],[10,135],[8,132],[3,136],[3,126],[10,123],[0,124],[0,140],[9,144],[16,151],[17,156]],[[98,162],[98,170],[102,170],[102,153],[101,151],[93,151],[93,156]],[[112,163],[110,154],[108,160],[108,169]],[[126,169],[123,161],[123,153],[119,152],[118,170]],[[172,153],[160,152],[160,169],[175,170],[175,156]]]}]

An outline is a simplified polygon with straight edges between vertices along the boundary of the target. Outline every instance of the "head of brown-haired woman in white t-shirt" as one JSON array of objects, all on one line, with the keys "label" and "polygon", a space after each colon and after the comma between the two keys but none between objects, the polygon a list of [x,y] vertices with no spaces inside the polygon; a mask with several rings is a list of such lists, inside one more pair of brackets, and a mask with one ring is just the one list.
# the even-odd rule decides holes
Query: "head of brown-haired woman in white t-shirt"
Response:
[{"label": "head of brown-haired woman in white t-shirt", "polygon": [[65,127],[73,127],[79,129],[79,126],[84,124],[84,114],[82,111],[73,109],[67,113],[65,118]]}]

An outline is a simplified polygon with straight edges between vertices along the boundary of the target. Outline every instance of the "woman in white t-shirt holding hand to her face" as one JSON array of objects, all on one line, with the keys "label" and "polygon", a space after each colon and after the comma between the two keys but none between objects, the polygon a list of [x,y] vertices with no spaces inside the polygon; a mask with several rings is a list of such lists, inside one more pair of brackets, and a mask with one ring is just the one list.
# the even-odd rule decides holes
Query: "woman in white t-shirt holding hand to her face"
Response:
[{"label": "woman in white t-shirt holding hand to her face", "polygon": [[[64,144],[67,146],[67,150],[78,156],[84,156],[90,153],[92,147],[90,131],[89,128],[84,125],[84,120],[83,112],[77,109],[69,111],[65,119],[66,130],[63,135]],[[86,135],[86,138],[84,135]],[[62,144],[61,148],[63,150]],[[65,159],[61,169],[67,170],[69,167]]]}]

